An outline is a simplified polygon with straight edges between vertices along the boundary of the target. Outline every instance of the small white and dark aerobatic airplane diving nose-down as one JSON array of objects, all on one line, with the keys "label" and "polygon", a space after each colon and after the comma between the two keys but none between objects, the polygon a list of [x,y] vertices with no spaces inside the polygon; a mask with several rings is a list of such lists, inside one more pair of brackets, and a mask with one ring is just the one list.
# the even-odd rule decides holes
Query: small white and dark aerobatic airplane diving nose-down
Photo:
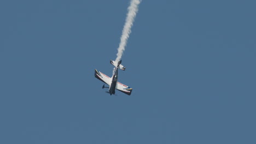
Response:
[{"label": "small white and dark aerobatic airplane diving nose-down", "polygon": [[108,91],[110,95],[115,94],[115,89],[118,91],[121,91],[125,94],[131,95],[132,88],[129,86],[124,85],[123,83],[118,82],[118,69],[125,70],[125,67],[121,65],[122,61],[119,61],[118,63],[115,61],[110,60],[110,63],[115,66],[114,73],[112,77],[108,77],[107,75],[101,73],[100,71],[95,69],[95,77],[104,83],[106,83],[109,87],[105,87],[105,85],[102,86],[102,88],[109,88]]}]

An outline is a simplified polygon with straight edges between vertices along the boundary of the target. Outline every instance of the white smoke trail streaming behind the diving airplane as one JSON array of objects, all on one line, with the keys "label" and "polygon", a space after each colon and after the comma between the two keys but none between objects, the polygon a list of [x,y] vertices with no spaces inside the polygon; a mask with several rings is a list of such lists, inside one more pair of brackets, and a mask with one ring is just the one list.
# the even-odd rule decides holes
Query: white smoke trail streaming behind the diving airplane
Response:
[{"label": "white smoke trail streaming behind the diving airplane", "polygon": [[136,17],[136,14],[138,12],[138,5],[141,3],[140,0],[131,0],[131,4],[128,7],[128,13],[126,15],[126,20],[125,20],[125,25],[123,28],[123,32],[120,38],[120,44],[118,47],[118,53],[117,53],[117,58],[115,59],[116,62],[120,61],[123,52],[125,50],[125,46],[127,44],[127,40],[129,38],[129,35],[131,33],[131,27],[133,24],[133,21]]}]

